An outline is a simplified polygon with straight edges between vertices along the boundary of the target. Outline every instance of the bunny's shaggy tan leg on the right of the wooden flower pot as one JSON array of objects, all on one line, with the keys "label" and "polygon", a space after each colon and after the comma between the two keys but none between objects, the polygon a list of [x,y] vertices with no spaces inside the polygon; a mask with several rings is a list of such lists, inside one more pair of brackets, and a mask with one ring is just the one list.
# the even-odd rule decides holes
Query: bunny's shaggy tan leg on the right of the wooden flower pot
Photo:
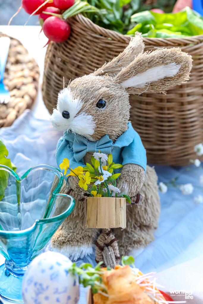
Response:
[{"label": "bunny's shaggy tan leg on the right of the wooden flower pot", "polygon": [[153,233],[158,226],[160,201],[156,172],[149,166],[140,192],[145,196],[143,202],[126,207],[127,227],[124,230],[114,230],[121,255],[129,254],[132,249],[145,247],[154,240]]}]

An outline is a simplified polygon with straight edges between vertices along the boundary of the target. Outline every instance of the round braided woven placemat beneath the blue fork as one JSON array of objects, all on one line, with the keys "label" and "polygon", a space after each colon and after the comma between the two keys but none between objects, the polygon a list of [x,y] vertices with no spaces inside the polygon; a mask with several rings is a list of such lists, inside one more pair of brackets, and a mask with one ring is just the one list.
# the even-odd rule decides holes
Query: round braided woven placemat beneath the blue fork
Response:
[{"label": "round braided woven placemat beneath the blue fork", "polygon": [[[0,37],[9,37],[0,32]],[[10,37],[9,54],[5,66],[4,84],[10,92],[8,103],[0,104],[0,127],[11,126],[37,96],[40,71],[37,62],[19,40]]]}]

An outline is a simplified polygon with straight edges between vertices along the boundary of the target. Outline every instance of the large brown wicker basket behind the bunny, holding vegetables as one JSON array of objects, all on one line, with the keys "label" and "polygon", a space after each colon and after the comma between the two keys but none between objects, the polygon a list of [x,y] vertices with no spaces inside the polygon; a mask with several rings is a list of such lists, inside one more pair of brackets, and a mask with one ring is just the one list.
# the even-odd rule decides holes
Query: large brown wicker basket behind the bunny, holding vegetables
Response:
[{"label": "large brown wicker basket behind the bunny, holding vegetables", "polygon": [[[43,99],[52,113],[63,76],[70,79],[93,72],[124,50],[129,36],[101,28],[82,15],[69,19],[71,36],[64,43],[50,43],[44,67]],[[144,38],[145,50],[181,47],[193,57],[187,84],[164,94],[131,95],[131,121],[153,164],[189,164],[197,156],[194,146],[203,142],[203,35],[184,39]],[[203,158],[201,158],[203,159]]]}]

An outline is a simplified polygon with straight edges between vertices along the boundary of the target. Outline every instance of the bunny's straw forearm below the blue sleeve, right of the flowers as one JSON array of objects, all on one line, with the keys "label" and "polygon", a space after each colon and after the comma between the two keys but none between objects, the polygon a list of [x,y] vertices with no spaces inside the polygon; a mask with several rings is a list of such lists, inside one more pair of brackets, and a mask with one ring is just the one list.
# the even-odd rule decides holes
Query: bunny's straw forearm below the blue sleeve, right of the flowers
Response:
[{"label": "bunny's straw forearm below the blue sleeve, right of the flowers", "polygon": [[144,181],[145,170],[141,166],[125,164],[121,170],[117,187],[121,193],[132,197],[141,190]]}]

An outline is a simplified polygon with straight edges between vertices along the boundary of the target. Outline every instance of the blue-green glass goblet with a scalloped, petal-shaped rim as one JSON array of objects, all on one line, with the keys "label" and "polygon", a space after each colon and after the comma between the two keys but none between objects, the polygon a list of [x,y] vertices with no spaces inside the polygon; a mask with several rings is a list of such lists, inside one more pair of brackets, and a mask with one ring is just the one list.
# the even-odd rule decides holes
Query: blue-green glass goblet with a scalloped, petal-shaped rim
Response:
[{"label": "blue-green glass goblet with a scalloped, petal-shaped rim", "polygon": [[22,177],[0,165],[0,253],[5,257],[0,266],[2,299],[23,303],[24,272],[74,209],[71,196],[58,194],[62,184],[61,172],[49,165],[35,166]]}]

